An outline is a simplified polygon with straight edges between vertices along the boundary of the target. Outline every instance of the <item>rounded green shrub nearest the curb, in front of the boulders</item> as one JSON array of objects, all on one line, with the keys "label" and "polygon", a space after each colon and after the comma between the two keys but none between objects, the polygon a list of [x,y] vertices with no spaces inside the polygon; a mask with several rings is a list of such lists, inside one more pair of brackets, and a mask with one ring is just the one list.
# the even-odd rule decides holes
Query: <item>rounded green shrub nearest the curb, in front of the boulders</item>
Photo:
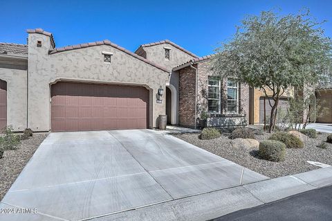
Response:
[{"label": "rounded green shrub nearest the curb, in front of the boulders", "polygon": [[280,141],[261,141],[259,143],[259,156],[268,161],[284,161],[286,157],[286,145]]}]

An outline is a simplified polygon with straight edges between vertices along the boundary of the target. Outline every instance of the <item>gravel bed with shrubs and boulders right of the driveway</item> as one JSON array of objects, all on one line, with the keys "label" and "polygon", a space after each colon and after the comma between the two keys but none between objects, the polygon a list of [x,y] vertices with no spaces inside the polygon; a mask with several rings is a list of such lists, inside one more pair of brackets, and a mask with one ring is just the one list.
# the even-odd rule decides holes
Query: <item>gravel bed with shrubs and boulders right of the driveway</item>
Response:
[{"label": "gravel bed with shrubs and boulders right of the driveway", "polygon": [[[212,140],[201,140],[199,139],[199,134],[173,134],[173,136],[192,143],[199,148],[208,150],[271,178],[293,175],[319,168],[306,161],[318,161],[332,165],[332,144],[326,143],[326,149],[317,148],[316,146],[322,141],[326,141],[327,135],[326,133],[317,134],[316,139],[308,139],[304,148],[287,149],[285,161],[271,162],[259,159],[258,148],[233,148],[230,143],[231,139],[228,139],[229,134],[222,134],[221,137]],[[266,133],[255,135],[258,141],[267,139],[268,136],[270,134]]]}]

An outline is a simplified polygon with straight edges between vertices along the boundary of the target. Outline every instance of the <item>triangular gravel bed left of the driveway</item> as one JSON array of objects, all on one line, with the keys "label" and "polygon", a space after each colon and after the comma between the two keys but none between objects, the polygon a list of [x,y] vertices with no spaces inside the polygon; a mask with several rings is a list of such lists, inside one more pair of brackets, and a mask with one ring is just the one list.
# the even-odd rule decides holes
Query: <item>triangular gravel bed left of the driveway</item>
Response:
[{"label": "triangular gravel bed left of the driveway", "polygon": [[0,159],[0,201],[46,136],[46,133],[33,134],[30,139],[21,141],[17,150],[6,150],[3,153]]}]

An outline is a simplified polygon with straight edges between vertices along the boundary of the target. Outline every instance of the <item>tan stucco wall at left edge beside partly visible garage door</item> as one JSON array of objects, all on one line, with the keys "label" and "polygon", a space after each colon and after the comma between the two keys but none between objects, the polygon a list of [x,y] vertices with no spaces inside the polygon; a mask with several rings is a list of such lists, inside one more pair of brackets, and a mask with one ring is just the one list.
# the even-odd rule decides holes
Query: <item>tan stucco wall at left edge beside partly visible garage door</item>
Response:
[{"label": "tan stucco wall at left edge beside partly visible garage door", "polygon": [[15,131],[26,129],[26,70],[0,68],[0,79],[7,82],[7,125]]}]

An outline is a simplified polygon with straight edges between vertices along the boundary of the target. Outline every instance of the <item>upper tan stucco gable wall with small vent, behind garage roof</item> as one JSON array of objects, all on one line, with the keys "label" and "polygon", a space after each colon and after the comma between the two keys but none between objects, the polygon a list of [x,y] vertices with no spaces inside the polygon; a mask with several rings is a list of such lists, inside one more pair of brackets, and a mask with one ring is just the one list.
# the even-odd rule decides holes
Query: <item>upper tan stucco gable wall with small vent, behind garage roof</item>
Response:
[{"label": "upper tan stucco gable wall with small vent, behind garage roof", "polygon": [[[169,60],[165,60],[165,48],[171,48],[169,51]],[[174,67],[188,62],[192,58],[192,55],[181,51],[180,49],[172,46],[172,44],[157,44],[154,46],[143,47],[144,51],[147,53],[147,60],[156,62],[157,64],[166,67],[169,70],[172,70]]]}]

